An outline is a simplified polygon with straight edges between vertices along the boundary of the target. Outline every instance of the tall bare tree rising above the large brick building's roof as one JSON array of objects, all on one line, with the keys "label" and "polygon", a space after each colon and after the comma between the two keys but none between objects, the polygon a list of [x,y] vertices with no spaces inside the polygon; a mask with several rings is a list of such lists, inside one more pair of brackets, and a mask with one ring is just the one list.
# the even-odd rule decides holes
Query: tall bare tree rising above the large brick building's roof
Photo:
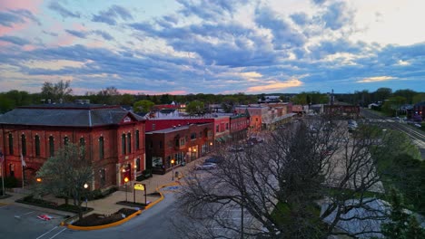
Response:
[{"label": "tall bare tree rising above the large brick building's roof", "polygon": [[73,89],[70,88],[71,81],[58,81],[52,83],[45,81],[42,87],[41,95],[44,100],[53,100],[54,102],[60,102],[61,100],[69,100]]}]

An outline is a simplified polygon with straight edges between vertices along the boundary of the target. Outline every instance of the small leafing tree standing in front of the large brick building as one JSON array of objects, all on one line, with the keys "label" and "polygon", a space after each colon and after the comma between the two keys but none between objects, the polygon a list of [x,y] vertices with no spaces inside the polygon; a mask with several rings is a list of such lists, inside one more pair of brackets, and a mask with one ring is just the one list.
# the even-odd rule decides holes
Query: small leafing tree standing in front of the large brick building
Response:
[{"label": "small leafing tree standing in front of the large brick building", "polygon": [[92,161],[85,157],[84,147],[68,143],[59,148],[56,155],[47,159],[37,171],[36,177],[42,182],[38,185],[41,192],[52,193],[55,196],[64,196],[74,199],[74,206],[78,206],[78,215],[83,217],[81,205],[84,196],[84,184],[90,184],[94,177]]}]

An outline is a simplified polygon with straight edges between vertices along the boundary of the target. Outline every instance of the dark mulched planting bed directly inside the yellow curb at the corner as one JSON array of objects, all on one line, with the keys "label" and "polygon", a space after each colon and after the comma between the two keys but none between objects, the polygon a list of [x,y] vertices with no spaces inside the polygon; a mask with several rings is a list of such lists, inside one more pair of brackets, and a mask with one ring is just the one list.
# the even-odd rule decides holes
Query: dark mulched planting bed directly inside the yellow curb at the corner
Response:
[{"label": "dark mulched planting bed directly inside the yellow curb at the corner", "polygon": [[96,226],[96,225],[111,225],[116,222],[122,221],[124,218],[127,218],[130,215],[138,213],[138,210],[131,208],[121,208],[116,213],[112,215],[99,215],[92,214],[87,215],[83,219],[74,222],[74,226]]}]

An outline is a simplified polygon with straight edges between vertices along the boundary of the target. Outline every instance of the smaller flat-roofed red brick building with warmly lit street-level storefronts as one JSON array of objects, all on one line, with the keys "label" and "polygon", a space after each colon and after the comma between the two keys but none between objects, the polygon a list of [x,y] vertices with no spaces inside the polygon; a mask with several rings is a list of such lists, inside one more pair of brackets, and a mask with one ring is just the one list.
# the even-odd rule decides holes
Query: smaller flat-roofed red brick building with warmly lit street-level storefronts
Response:
[{"label": "smaller flat-roofed red brick building with warmly lit street-level storefronts", "polygon": [[177,125],[146,132],[146,167],[163,174],[213,150],[213,123]]}]

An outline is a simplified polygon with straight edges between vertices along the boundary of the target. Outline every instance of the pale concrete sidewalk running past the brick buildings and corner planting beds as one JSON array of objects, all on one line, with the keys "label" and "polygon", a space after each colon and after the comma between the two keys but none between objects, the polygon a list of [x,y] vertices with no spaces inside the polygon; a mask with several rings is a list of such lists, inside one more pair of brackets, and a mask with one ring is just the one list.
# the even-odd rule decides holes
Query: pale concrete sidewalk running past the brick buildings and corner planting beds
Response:
[{"label": "pale concrete sidewalk running past the brick buildings and corner planting beds", "polygon": [[[185,175],[186,172],[190,170],[190,168],[194,167],[195,164],[201,164],[204,158],[206,157],[198,158],[194,160],[193,162],[188,163],[184,167],[175,167],[174,174],[175,172],[179,172],[179,175],[181,176]],[[146,201],[153,203],[154,201],[159,200],[160,196],[152,196],[151,194],[156,193],[156,189],[159,186],[171,184],[173,182],[178,181],[178,178],[176,177],[174,177],[174,181],[172,179],[173,179],[173,171],[170,171],[164,175],[153,175],[153,177],[150,177],[149,179],[145,179],[142,182],[131,181],[127,184],[127,186],[131,187],[133,186],[133,183],[145,184],[145,190],[147,194]],[[17,189],[17,188],[15,189],[15,192],[6,192],[7,195],[11,195],[11,196],[4,199],[0,199],[0,206],[9,204],[9,205],[18,205],[18,206],[28,207],[28,208],[36,207],[47,213],[52,213],[57,215],[74,215],[72,213],[67,213],[64,211],[58,211],[58,210],[53,210],[53,209],[48,209],[48,208],[38,207],[38,206],[30,206],[30,205],[25,205],[25,204],[20,204],[15,202],[15,200],[22,198],[30,193],[31,193],[30,190]],[[64,204],[64,199],[62,198],[57,198],[51,195],[44,196],[43,198],[45,200],[55,202],[59,205]],[[133,202],[133,191],[128,190],[127,193],[125,191],[116,191],[110,196],[106,196],[105,198],[88,201],[87,205],[85,202],[83,202],[82,206],[88,206],[88,207],[94,208],[94,210],[90,212],[89,214],[95,213],[95,214],[109,215],[109,214],[115,213],[116,211],[118,211],[119,209],[123,207],[133,208],[132,206],[124,206],[124,205],[116,204],[116,202],[125,201],[126,198],[127,198],[127,201]],[[135,190],[135,201],[137,203],[144,203],[144,200],[145,200],[144,192]],[[72,204],[73,201],[69,200],[69,203]]]}]

